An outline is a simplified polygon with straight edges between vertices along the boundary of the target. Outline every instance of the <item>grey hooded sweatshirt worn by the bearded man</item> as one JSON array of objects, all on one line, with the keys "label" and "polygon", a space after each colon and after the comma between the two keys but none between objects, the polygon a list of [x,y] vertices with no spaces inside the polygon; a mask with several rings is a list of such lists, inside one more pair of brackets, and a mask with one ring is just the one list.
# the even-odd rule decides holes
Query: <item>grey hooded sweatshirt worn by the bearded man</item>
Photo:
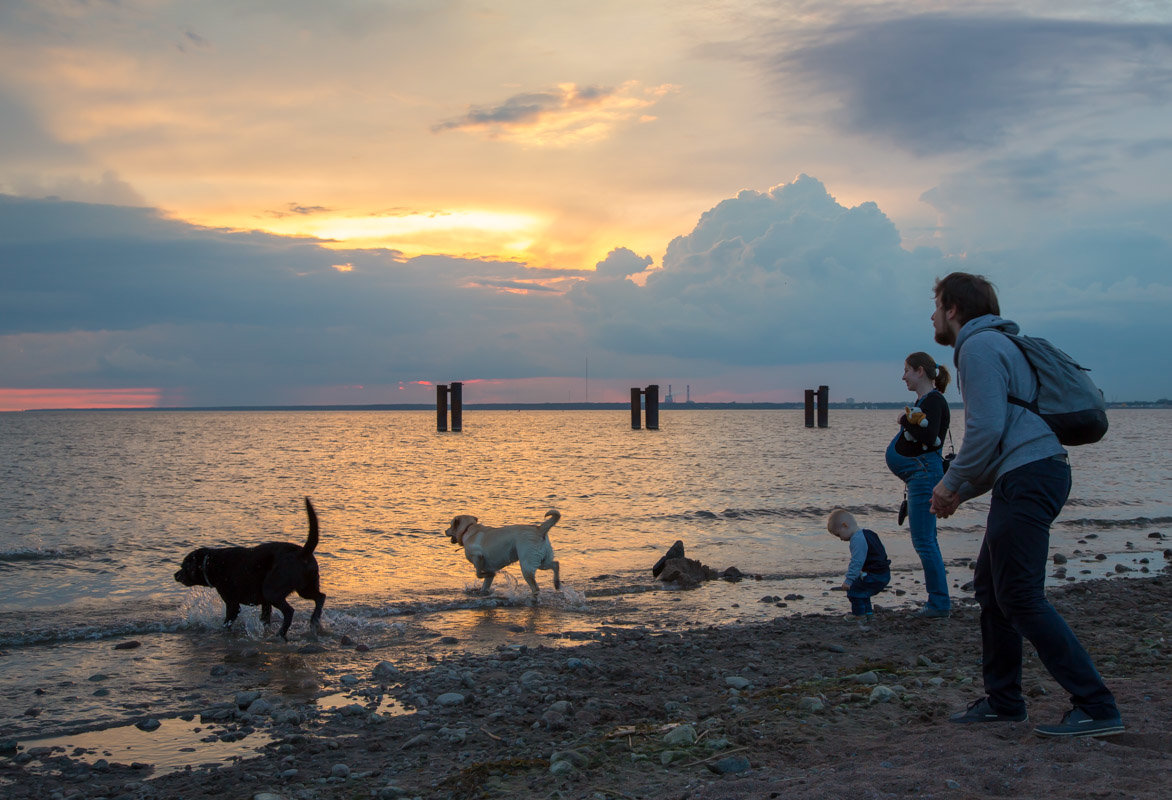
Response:
[{"label": "grey hooded sweatshirt worn by the bearded man", "polygon": [[965,442],[943,485],[961,500],[988,492],[1010,470],[1067,452],[1040,416],[1009,402],[1009,395],[1033,399],[1037,380],[1017,346],[999,330],[1016,334],[1020,328],[987,314],[956,334],[953,362],[965,401]]}]

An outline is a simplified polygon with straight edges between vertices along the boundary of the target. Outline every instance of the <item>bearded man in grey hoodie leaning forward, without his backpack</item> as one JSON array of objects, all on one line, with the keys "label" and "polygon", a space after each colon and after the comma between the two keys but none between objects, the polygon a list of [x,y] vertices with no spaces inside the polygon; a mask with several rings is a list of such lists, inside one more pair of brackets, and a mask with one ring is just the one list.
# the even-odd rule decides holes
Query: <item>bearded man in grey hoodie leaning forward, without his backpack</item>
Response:
[{"label": "bearded man in grey hoodie leaning forward, without his backpack", "polygon": [[[1037,413],[1009,402],[1031,398],[1037,380],[1001,319],[994,286],[981,275],[952,273],[936,281],[932,315],[939,344],[954,348],[965,402],[965,442],[932,493],[943,519],[969,498],[989,492],[984,540],[973,586],[981,604],[986,697],[953,714],[954,723],[1024,722],[1022,638],[1028,638],[1072,709],[1041,736],[1110,736],[1123,731],[1115,697],[1065,620],[1045,599],[1050,525],[1070,493],[1070,464]],[[1010,335],[1006,335],[1010,334]]]}]

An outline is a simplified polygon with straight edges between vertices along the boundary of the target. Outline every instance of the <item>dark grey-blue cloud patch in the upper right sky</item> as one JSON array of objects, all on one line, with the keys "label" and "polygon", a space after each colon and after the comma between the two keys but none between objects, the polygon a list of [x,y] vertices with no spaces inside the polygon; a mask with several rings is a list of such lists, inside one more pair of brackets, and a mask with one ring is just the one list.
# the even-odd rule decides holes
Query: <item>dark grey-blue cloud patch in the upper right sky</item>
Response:
[{"label": "dark grey-blue cloud patch in the upper right sky", "polygon": [[1160,104],[1172,89],[1172,26],[924,15],[819,32],[779,56],[779,80],[839,98],[833,122],[919,155],[1000,143],[1074,108]]}]

